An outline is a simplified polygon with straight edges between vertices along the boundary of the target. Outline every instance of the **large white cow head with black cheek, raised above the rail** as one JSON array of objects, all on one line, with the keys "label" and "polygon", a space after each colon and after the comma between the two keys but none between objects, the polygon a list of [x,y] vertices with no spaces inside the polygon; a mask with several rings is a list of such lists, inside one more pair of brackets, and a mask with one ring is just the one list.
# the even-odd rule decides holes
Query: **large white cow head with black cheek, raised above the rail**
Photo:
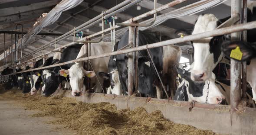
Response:
[{"label": "large white cow head with black cheek, raised above the rail", "polygon": [[[213,14],[200,15],[194,26],[192,34],[198,34],[214,30],[219,20]],[[223,58],[220,46],[223,42],[223,36],[216,36],[203,39],[203,41],[194,41],[194,66],[191,70],[191,79],[195,81],[205,81],[212,76],[214,67]]]}]

